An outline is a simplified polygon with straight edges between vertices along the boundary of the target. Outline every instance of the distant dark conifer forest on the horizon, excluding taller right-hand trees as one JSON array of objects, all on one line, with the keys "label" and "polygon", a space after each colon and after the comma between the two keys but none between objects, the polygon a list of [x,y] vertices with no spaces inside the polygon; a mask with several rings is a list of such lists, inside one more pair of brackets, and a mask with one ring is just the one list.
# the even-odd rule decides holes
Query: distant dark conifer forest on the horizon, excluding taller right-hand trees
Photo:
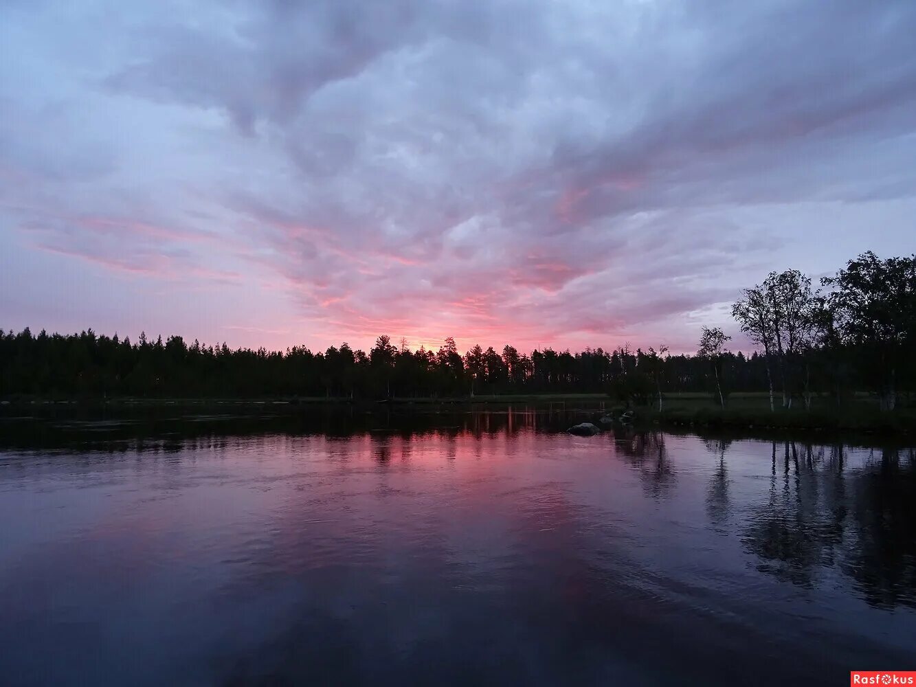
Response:
[{"label": "distant dark conifer forest on the horizon, excluding taller right-hand trees", "polygon": [[[726,354],[735,389],[766,386],[758,354]],[[606,393],[625,381],[639,393],[660,367],[666,391],[703,391],[707,363],[690,355],[665,358],[627,347],[581,353],[546,348],[520,354],[506,345],[474,346],[459,354],[454,340],[438,351],[391,344],[379,336],[368,352],[347,344],[312,353],[304,346],[285,352],[231,349],[225,344],[188,345],[180,336],[136,341],[118,336],[0,335],[0,394],[95,397],[333,397],[445,398],[512,393]],[[634,383],[638,380],[638,384]]]}]

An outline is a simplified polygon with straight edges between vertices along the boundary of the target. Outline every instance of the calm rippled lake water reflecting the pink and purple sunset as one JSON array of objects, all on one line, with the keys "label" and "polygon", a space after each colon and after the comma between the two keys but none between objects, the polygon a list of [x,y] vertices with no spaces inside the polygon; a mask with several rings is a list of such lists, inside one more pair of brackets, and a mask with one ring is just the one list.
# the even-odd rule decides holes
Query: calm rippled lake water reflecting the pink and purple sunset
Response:
[{"label": "calm rippled lake water reflecting the pink and purple sunset", "polygon": [[916,668],[910,449],[567,423],[6,420],[0,683]]}]

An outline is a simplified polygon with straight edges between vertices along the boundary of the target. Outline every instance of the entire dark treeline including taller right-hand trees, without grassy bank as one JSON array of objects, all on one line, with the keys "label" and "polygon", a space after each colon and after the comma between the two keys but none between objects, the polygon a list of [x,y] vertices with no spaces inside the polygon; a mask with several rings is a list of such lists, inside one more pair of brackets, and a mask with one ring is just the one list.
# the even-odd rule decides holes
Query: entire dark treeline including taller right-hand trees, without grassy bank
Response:
[{"label": "entire dark treeline including taller right-hand trees, without grassy bank", "polygon": [[914,385],[916,258],[850,261],[823,290],[790,270],[746,289],[736,322],[760,347],[726,350],[729,337],[703,328],[695,355],[664,346],[632,350],[531,354],[506,345],[460,354],[453,338],[436,350],[410,350],[379,336],[367,353],[347,344],[313,353],[188,344],[180,336],[136,341],[92,330],[61,335],[0,331],[0,396],[12,397],[333,397],[446,398],[489,394],[609,393],[658,403],[665,393],[709,392],[722,405],[730,392],[767,391],[810,404],[838,403],[870,390],[892,409]]}]

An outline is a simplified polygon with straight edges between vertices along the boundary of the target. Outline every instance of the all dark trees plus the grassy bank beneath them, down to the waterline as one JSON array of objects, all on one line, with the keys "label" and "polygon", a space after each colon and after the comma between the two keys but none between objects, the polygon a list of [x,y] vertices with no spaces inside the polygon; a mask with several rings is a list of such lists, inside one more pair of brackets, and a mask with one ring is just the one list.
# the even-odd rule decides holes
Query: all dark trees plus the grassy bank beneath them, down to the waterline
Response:
[{"label": "all dark trees plus the grassy bank beneath them, down to the waterline", "polygon": [[[220,402],[431,408],[455,404],[595,402],[638,409],[640,421],[856,431],[916,425],[916,255],[849,260],[819,289],[798,270],[771,272],[740,292],[732,317],[756,350],[703,326],[693,354],[660,344],[572,353],[502,352],[452,337],[437,351],[348,344],[312,352],[128,337],[33,335],[0,329],[0,402],[51,399],[115,405]],[[181,399],[181,400],[179,400]],[[224,399],[224,400],[219,400]],[[230,400],[231,399],[231,400]],[[47,403],[46,403],[47,401]]]}]

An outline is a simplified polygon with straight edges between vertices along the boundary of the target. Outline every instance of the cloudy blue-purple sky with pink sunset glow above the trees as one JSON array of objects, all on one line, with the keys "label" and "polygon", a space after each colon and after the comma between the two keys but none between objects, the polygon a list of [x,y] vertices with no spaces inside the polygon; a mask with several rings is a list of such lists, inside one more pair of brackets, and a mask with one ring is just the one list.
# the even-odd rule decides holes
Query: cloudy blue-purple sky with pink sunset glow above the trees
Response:
[{"label": "cloudy blue-purple sky with pink sunset glow above the trees", "polygon": [[916,250],[911,0],[0,0],[0,328],[743,347]]}]

